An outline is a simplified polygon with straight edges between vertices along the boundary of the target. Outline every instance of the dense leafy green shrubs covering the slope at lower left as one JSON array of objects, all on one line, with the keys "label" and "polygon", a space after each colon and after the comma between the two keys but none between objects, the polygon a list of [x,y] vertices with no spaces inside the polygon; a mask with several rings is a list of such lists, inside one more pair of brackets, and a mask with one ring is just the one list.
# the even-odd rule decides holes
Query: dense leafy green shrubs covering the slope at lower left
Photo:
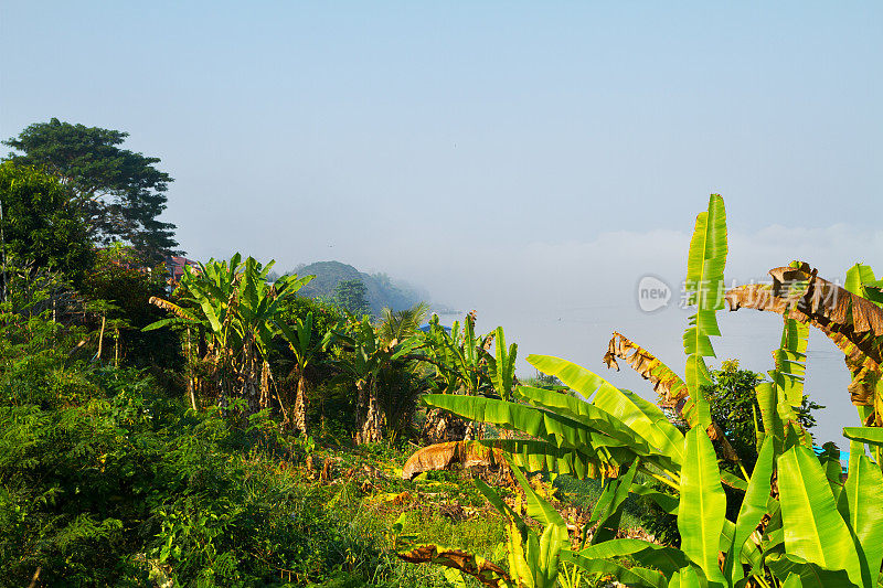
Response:
[{"label": "dense leafy green shrubs covering the slope at lower left", "polygon": [[[2,586],[394,586],[408,574],[258,414],[188,410],[135,368],[70,355],[45,316],[0,327]],[[387,584],[389,582],[389,584]]]}]

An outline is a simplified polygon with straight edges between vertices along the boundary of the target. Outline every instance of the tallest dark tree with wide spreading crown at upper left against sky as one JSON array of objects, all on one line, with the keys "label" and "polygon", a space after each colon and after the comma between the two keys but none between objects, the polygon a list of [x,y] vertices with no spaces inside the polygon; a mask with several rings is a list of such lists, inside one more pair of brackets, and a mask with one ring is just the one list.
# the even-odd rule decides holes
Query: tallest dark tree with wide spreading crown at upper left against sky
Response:
[{"label": "tallest dark tree with wide spreading crown at upper left against sky", "polygon": [[17,163],[42,165],[74,193],[95,243],[130,243],[145,260],[160,263],[173,252],[175,226],[158,221],[172,178],[145,157],[119,146],[128,132],[61,122],[36,122],[3,145]]}]

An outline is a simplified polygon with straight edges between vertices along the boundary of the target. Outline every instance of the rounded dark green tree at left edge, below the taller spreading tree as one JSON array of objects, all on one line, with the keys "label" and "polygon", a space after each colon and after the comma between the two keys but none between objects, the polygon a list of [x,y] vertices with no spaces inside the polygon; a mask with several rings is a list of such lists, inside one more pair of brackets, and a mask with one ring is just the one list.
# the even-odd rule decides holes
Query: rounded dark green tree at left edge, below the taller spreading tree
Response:
[{"label": "rounded dark green tree at left edge, below the taller spreading tree", "polygon": [[56,269],[79,282],[94,253],[71,193],[51,175],[0,163],[3,264],[9,270]]}]

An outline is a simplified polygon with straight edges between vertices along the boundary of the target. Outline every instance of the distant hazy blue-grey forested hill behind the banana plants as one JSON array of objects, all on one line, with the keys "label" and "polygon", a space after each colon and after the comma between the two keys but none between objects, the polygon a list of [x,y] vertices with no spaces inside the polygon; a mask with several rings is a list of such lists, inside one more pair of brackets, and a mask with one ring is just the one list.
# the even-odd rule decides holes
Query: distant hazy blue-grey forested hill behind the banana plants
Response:
[{"label": "distant hazy blue-grey forested hill behind the banana plants", "polygon": [[375,314],[384,307],[393,310],[411,308],[421,300],[428,301],[428,292],[421,291],[401,281],[393,281],[386,274],[365,274],[340,261],[317,261],[307,266],[298,266],[298,276],[315,275],[316,278],[305,286],[299,295],[315,298],[334,295],[334,288],[341,280],[362,280],[368,289],[368,301]]}]

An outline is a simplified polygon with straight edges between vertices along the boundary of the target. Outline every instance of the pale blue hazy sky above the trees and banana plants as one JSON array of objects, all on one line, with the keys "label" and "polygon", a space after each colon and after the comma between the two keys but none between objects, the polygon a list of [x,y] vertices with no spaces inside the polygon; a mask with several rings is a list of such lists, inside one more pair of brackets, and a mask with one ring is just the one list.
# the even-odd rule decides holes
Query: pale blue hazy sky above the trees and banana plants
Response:
[{"label": "pale blue hazy sky above the trees and banana plants", "polygon": [[[129,132],[175,179],[189,257],[385,271],[503,325],[522,375],[530,353],[605,370],[613,330],[682,370],[712,192],[728,281],[796,258],[883,272],[879,2],[0,0],[0,136]],[[652,313],[646,275],[672,290]],[[720,320],[719,357],[772,367],[778,318]],[[838,440],[842,359],[813,335],[808,365]]]}]

